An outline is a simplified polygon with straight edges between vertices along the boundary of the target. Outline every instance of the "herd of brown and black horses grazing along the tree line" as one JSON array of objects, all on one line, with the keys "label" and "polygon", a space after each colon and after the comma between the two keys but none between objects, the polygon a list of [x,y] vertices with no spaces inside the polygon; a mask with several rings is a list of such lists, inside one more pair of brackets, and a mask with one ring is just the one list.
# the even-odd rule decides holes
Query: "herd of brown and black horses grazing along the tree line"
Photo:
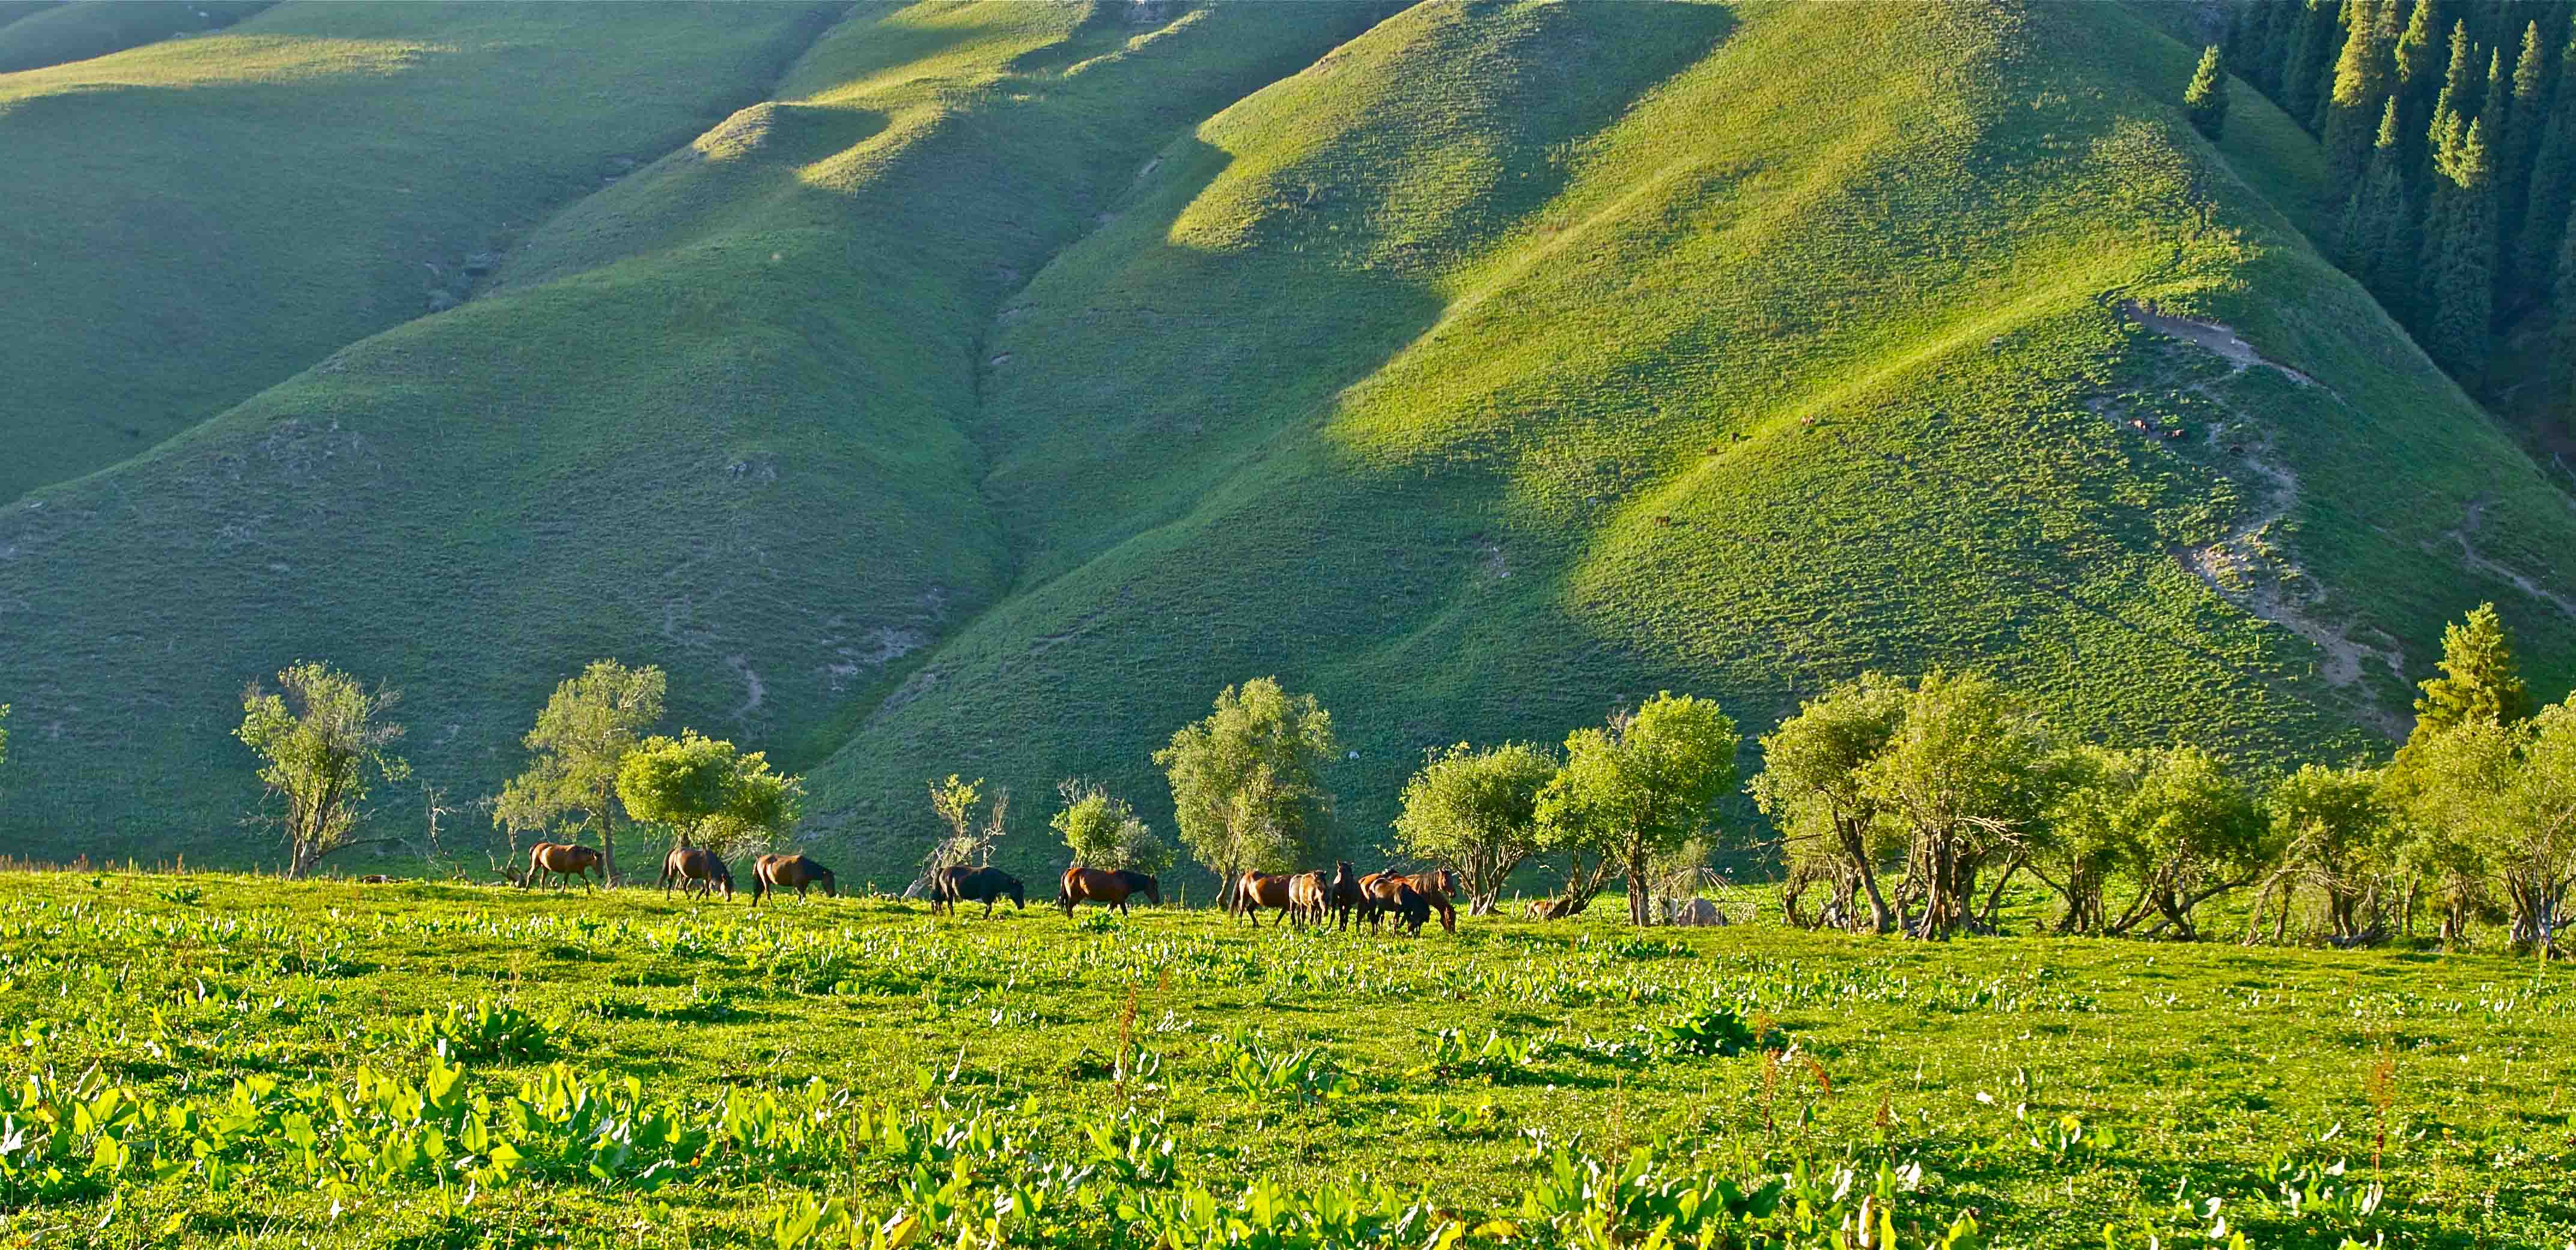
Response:
[{"label": "herd of brown and black horses grazing along the tree line", "polygon": [[[520,889],[538,884],[551,876],[556,887],[567,887],[572,879],[582,881],[582,889],[592,887],[592,874],[598,884],[608,881],[605,861],[592,845],[574,843],[536,843],[528,848],[528,871],[518,874],[513,884]],[[662,897],[672,889],[680,894],[714,897],[719,889],[726,899],[734,897],[734,871],[724,866],[724,858],[701,845],[672,848],[662,856]],[[804,897],[809,887],[819,887],[829,897],[840,897],[832,879],[832,869],[814,863],[806,856],[760,856],[752,861],[752,907],[760,897],[773,889],[793,889]],[[1432,915],[1440,915],[1440,928],[1448,933],[1458,930],[1458,910],[1450,907],[1450,894],[1458,892],[1458,874],[1448,869],[1422,871],[1422,874],[1394,874],[1376,871],[1358,876],[1350,871],[1350,861],[1334,863],[1332,876],[1321,871],[1306,874],[1242,874],[1234,881],[1234,899],[1229,910],[1262,928],[1260,912],[1285,912],[1288,920],[1301,928],[1309,923],[1340,923],[1347,930],[1358,920],[1368,920],[1378,928],[1386,918],[1396,920],[1401,933],[1422,933],[1422,925]],[[994,905],[1010,899],[1012,907],[1028,910],[1028,892],[1018,876],[981,866],[956,866],[938,869],[927,879],[930,912],[938,915],[943,907],[956,915],[961,902],[981,902],[984,915],[992,915]],[[1064,915],[1074,915],[1074,905],[1097,902],[1103,907],[1115,907],[1121,915],[1128,912],[1131,897],[1144,897],[1146,902],[1162,902],[1162,881],[1141,871],[1126,869],[1064,869],[1064,879],[1056,889],[1056,907]]]}]

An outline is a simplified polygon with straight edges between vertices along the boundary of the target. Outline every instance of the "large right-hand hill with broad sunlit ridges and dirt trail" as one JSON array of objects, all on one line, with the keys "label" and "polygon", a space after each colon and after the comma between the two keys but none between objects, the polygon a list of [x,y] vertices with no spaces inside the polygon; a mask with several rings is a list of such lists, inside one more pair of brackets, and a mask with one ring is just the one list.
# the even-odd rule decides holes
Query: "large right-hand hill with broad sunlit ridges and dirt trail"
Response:
[{"label": "large right-hand hill with broad sunlit ridges and dirt trail", "polygon": [[1989,665],[2107,740],[2334,755],[2496,595],[2563,688],[2509,575],[2568,585],[2566,500],[2272,204],[2285,119],[2179,124],[2187,67],[2107,5],[1502,5],[1229,108],[997,327],[1020,593],[819,771],[827,827],[917,838],[933,768],[1159,799],[1260,673],[1334,709],[1358,845],[1425,747],[1664,686],[1759,732]]}]

